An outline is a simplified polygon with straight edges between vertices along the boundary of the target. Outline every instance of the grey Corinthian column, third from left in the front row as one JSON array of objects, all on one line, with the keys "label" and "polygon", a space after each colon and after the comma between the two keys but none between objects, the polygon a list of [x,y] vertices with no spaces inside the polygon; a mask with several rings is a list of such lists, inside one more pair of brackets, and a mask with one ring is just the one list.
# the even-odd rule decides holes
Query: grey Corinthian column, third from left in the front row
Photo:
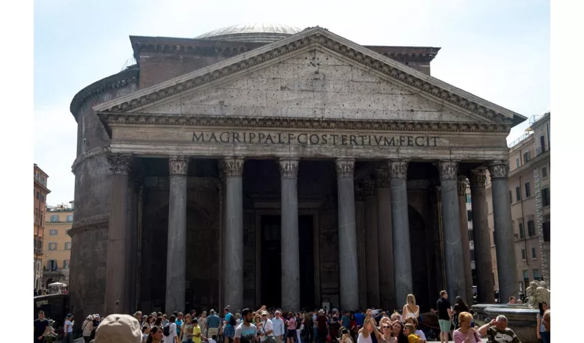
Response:
[{"label": "grey Corinthian column, third from left in the front row", "polygon": [[225,305],[243,306],[243,163],[225,158]]}]

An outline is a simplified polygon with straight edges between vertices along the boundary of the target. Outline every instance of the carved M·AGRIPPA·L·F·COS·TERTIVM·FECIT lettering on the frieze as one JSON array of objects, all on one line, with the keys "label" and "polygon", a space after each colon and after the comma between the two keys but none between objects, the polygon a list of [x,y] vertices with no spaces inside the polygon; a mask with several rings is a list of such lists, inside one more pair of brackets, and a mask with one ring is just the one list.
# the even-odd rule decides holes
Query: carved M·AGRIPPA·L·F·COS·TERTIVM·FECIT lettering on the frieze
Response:
[{"label": "carved M\u00b7AGRIPPA\u00b7L\u00b7F\u00b7COS\u00b7TERTIVM\u00b7FECIT lettering on the frieze", "polygon": [[195,131],[193,143],[284,144],[284,145],[366,145],[436,147],[435,136],[401,134],[331,134],[322,132]]}]

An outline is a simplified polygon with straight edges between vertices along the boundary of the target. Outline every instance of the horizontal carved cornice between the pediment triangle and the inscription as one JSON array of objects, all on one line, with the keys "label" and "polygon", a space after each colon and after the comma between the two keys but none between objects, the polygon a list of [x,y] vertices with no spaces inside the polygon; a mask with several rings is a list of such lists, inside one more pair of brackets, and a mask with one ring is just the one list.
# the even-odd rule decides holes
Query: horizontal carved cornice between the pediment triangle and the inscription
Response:
[{"label": "horizontal carved cornice between the pediment triangle and the inscription", "polygon": [[212,115],[161,115],[151,113],[100,113],[106,130],[111,126],[170,125],[240,128],[303,128],[337,130],[386,130],[423,132],[508,133],[511,123],[456,123],[445,121],[398,121],[381,119],[319,119],[291,117],[243,117]]}]

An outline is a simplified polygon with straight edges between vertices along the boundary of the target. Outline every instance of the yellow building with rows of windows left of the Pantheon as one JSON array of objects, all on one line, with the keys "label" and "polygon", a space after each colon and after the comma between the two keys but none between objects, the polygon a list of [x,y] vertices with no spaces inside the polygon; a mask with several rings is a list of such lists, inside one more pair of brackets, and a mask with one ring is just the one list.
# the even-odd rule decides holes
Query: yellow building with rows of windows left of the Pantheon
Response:
[{"label": "yellow building with rows of windows left of the Pantheon", "polygon": [[43,287],[54,282],[69,283],[71,237],[68,231],[73,224],[73,202],[69,203],[71,206],[47,206],[45,212]]}]

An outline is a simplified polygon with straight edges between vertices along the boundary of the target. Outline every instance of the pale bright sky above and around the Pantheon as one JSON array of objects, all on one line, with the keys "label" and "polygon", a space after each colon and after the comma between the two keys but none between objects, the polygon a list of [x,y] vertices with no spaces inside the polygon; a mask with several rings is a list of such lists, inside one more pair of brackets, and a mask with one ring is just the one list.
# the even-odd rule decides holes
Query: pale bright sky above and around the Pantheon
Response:
[{"label": "pale bright sky above and around the Pantheon", "polygon": [[319,25],[362,45],[442,47],[436,78],[526,117],[550,109],[549,1],[34,1],[34,161],[50,176],[48,204],[74,196],[71,99],[122,69],[129,35],[194,37],[253,22]]}]

